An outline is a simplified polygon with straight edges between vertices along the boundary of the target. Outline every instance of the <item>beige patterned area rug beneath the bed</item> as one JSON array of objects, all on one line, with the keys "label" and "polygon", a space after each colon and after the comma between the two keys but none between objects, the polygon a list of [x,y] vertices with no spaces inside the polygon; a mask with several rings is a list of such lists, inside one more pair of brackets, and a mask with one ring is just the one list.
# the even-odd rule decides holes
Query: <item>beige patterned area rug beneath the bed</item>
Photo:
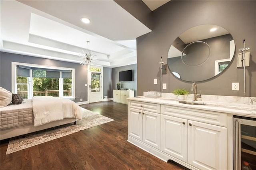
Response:
[{"label": "beige patterned area rug beneath the bed", "polygon": [[31,146],[35,146],[44,142],[48,142],[50,140],[66,136],[80,130],[114,121],[114,119],[110,119],[108,117],[102,116],[98,113],[94,113],[84,108],[82,108],[82,111],[82,120],[76,121],[76,125],[73,125],[73,123],[69,123],[66,125],[58,126],[54,129],[49,128],[41,130],[39,132],[26,134],[25,137],[10,138],[6,154],[17,152],[19,150],[29,148]]}]

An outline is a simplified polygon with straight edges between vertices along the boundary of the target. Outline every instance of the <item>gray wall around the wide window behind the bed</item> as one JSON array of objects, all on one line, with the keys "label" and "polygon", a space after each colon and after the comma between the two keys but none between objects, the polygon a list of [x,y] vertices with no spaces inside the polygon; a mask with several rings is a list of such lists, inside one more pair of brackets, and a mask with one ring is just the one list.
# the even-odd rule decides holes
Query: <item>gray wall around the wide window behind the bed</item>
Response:
[{"label": "gray wall around the wide window behind the bed", "polygon": [[57,61],[52,59],[45,59],[40,57],[32,57],[28,55],[19,55],[14,53],[0,53],[0,86],[12,91],[12,62],[20,63],[30,63],[30,64],[40,64],[56,67],[68,67],[75,69],[75,97],[74,102],[80,102],[82,98],[83,101],[87,101],[87,87],[84,84],[87,84],[87,70],[86,67],[77,64],[70,63],[65,61]]}]

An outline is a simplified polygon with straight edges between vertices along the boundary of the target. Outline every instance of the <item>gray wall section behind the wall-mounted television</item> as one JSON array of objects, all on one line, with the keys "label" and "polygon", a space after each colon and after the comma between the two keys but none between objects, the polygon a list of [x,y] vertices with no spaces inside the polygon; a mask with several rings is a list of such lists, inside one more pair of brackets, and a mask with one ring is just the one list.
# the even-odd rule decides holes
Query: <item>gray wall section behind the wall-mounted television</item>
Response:
[{"label": "gray wall section behind the wall-mounted television", "polygon": [[[132,81],[119,81],[119,71],[132,70]],[[121,89],[134,90],[134,96],[137,96],[137,64],[126,65],[112,68],[112,87],[117,89],[116,83],[121,83]]]}]

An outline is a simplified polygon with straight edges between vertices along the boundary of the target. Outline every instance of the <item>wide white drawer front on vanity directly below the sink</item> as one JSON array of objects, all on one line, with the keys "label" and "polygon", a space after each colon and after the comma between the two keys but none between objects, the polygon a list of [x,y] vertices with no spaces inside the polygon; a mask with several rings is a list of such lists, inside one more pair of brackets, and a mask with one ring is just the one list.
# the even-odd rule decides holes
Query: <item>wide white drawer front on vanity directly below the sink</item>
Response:
[{"label": "wide white drawer front on vanity directly below the sink", "polygon": [[161,110],[163,115],[170,115],[174,117],[180,117],[193,121],[199,121],[203,123],[210,123],[212,125],[227,127],[226,113],[191,109],[185,107],[176,107],[169,105],[161,105]]}]

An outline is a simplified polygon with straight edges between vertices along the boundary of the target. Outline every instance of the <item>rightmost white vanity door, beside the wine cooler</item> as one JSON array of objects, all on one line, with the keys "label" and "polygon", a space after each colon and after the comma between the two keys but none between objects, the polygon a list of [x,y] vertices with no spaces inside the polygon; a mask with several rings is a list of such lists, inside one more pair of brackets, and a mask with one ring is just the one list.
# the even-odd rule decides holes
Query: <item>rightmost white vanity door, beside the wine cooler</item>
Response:
[{"label": "rightmost white vanity door, beside the wine cooler", "polygon": [[188,121],[188,163],[199,169],[226,170],[227,128]]}]

